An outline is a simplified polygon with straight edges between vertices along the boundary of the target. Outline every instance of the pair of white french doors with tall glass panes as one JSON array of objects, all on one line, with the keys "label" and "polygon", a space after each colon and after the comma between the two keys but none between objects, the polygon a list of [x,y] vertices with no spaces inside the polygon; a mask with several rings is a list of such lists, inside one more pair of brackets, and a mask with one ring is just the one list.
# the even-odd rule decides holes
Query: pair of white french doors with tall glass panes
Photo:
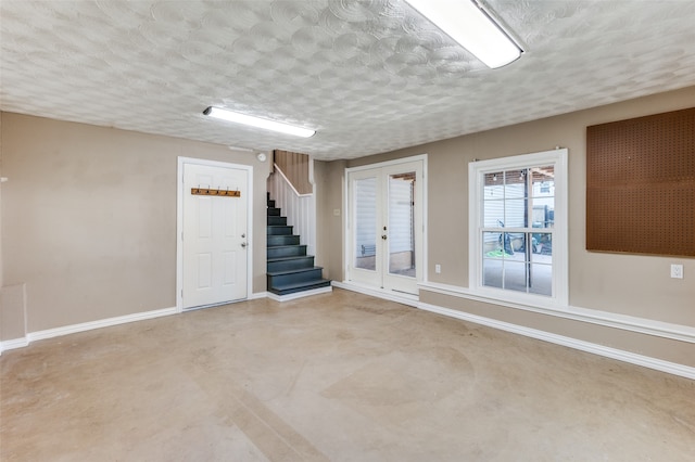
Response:
[{"label": "pair of white french doors with tall glass panes", "polygon": [[348,170],[349,281],[418,294],[422,182],[422,159]]}]

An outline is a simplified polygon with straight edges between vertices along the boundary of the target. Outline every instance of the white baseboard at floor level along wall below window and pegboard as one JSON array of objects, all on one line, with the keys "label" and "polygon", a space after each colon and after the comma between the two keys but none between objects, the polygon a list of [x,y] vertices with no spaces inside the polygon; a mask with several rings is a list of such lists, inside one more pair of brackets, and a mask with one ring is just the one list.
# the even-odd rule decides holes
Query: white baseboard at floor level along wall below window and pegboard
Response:
[{"label": "white baseboard at floor level along wall below window and pegboard", "polygon": [[451,318],[475,322],[477,324],[500,329],[502,331],[525,335],[527,337],[549,342],[556,345],[563,345],[563,346],[579,349],[582,351],[592,352],[594,355],[604,356],[606,358],[612,358],[619,361],[629,362],[631,364],[637,364],[644,368],[655,369],[657,371],[667,372],[669,374],[680,375],[682,377],[695,380],[695,368],[691,368],[688,365],[679,364],[670,361],[664,361],[661,359],[656,359],[648,356],[637,355],[634,352],[624,351],[617,348],[610,348],[603,345],[593,344],[591,342],[584,342],[584,341],[579,341],[571,337],[566,337],[564,335],[552,334],[552,333],[539,331],[535,329],[529,329],[521,325],[510,324],[508,322],[497,321],[494,319],[470,315],[463,311],[442,308],[435,305],[429,305],[429,304],[422,303],[418,305],[418,308],[426,311],[435,312],[438,315],[448,316]]}]

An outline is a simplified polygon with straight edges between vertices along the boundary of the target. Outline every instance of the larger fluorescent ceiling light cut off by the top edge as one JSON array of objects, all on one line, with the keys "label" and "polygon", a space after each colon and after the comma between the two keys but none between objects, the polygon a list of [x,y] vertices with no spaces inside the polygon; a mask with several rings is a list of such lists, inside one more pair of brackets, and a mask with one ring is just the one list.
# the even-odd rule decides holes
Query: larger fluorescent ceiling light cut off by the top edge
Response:
[{"label": "larger fluorescent ceiling light cut off by the top edge", "polygon": [[405,0],[488,67],[502,67],[523,50],[476,0]]}]

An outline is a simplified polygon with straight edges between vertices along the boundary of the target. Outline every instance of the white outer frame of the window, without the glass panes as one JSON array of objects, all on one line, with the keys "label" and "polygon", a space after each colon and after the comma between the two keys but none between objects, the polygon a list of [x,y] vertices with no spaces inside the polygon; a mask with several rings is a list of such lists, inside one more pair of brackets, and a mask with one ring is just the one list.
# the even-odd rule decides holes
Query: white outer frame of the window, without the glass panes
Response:
[{"label": "white outer frame of the window, without the glass panes", "polygon": [[[471,293],[491,299],[546,308],[565,308],[569,305],[568,279],[568,172],[567,149],[555,149],[531,154],[475,161],[468,164],[468,287]],[[552,295],[538,295],[514,290],[482,285],[483,277],[483,210],[484,176],[501,170],[554,166],[555,209],[553,229],[553,291]]]}]

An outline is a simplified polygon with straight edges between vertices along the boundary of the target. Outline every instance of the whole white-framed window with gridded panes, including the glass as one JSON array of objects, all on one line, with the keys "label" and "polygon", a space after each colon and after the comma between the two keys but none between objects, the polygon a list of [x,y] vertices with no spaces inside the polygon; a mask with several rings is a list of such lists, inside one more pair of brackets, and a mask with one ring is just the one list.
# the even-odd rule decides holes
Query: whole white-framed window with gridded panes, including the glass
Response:
[{"label": "whole white-framed window with gridded panes, including the glass", "polygon": [[472,162],[468,184],[470,290],[567,306],[567,150]]}]

